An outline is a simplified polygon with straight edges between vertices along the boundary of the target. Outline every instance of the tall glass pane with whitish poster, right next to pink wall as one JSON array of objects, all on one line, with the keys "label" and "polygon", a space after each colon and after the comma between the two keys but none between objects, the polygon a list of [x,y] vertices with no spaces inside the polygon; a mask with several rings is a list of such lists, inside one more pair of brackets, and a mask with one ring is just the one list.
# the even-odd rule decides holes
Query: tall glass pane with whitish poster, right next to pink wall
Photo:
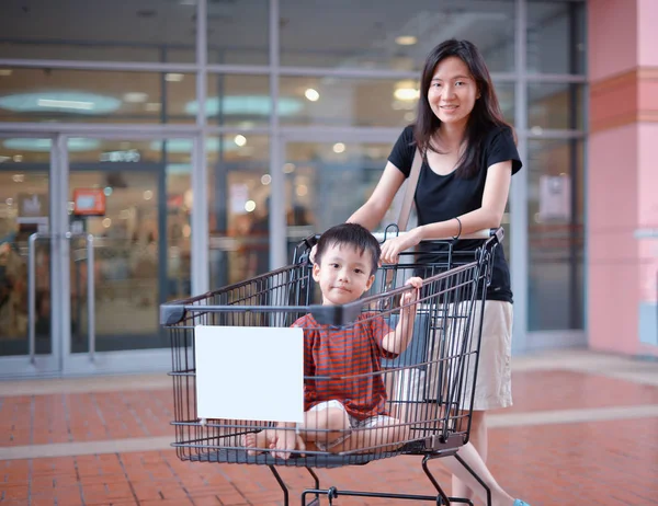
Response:
[{"label": "tall glass pane with whitish poster, right next to pink wall", "polygon": [[583,329],[583,142],[529,141],[529,331]]}]

